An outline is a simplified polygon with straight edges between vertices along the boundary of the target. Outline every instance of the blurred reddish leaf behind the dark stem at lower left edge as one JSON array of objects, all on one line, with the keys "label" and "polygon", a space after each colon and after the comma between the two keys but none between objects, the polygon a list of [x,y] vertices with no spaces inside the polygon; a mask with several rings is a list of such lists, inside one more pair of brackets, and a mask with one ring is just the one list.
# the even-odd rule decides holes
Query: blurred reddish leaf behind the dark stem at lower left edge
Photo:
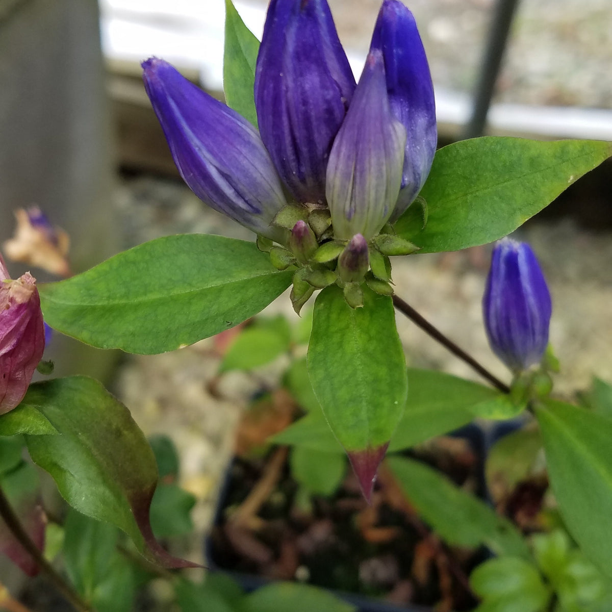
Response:
[{"label": "blurred reddish leaf behind the dark stem at lower left edge", "polygon": [[[39,503],[39,478],[36,469],[31,464],[22,462],[18,468],[0,476],[0,487],[26,533],[42,551],[45,546],[47,517]],[[1,518],[0,552],[6,554],[28,576],[34,577],[39,572],[34,559]]]}]

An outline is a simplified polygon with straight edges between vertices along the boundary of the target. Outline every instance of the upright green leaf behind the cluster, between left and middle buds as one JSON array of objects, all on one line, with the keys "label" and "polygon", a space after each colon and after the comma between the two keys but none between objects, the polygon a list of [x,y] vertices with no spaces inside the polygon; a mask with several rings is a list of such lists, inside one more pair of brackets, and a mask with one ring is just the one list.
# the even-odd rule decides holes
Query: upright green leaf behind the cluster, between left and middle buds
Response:
[{"label": "upright green leaf behind the cluster, between left and middle buds", "polygon": [[223,91],[225,101],[257,127],[255,111],[255,64],[259,40],[245,26],[231,0],[225,0],[225,49]]}]

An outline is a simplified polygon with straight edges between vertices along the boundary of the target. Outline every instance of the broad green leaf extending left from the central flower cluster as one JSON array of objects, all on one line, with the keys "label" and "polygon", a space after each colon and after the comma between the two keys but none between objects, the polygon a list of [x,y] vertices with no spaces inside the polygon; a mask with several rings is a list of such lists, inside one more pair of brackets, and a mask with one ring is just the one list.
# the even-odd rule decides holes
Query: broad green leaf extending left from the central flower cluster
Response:
[{"label": "broad green leaf extending left from the central flower cluster", "polygon": [[98,348],[173,351],[263,310],[291,283],[254,242],[182,234],[39,287],[45,321]]}]

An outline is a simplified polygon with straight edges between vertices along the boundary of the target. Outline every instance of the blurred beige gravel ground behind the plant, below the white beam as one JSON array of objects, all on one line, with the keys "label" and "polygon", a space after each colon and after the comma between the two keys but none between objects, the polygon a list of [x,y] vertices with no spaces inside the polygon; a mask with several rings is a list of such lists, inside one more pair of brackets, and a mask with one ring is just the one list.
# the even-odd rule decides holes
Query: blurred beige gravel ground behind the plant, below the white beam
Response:
[{"label": "blurred beige gravel ground behind the plant, below the white beam", "polygon": [[[171,233],[201,232],[250,239],[250,233],[206,209],[183,185],[139,177],[123,182],[119,215],[124,247]],[[612,380],[612,242],[608,233],[589,233],[572,222],[530,223],[520,236],[539,255],[553,294],[551,342],[562,363],[556,389],[570,397],[588,386],[592,374]],[[561,246],[562,245],[562,246]],[[560,250],[562,256],[559,256]],[[493,357],[482,327],[480,299],[490,248],[441,255],[396,258],[397,293],[442,332],[502,379],[505,368]],[[269,307],[295,315],[286,295]],[[468,378],[477,375],[446,349],[398,315],[398,330],[408,363],[435,367]],[[158,356],[128,356],[118,373],[116,391],[147,435],[170,433],[182,455],[182,484],[200,503],[198,529],[212,520],[218,484],[230,458],[233,428],[255,384],[241,373],[225,375],[212,395],[208,383],[218,368],[211,340]],[[261,376],[274,380],[278,366]],[[201,554],[196,544],[193,558]]]}]

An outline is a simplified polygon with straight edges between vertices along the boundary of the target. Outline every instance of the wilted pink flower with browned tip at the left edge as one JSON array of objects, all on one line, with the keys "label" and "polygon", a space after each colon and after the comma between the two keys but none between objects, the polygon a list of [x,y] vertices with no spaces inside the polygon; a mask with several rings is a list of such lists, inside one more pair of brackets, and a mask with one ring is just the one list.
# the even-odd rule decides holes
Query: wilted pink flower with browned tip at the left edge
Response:
[{"label": "wilted pink flower with browned tip at the left edge", "polygon": [[10,280],[0,255],[0,414],[20,403],[45,349],[36,279]]}]

